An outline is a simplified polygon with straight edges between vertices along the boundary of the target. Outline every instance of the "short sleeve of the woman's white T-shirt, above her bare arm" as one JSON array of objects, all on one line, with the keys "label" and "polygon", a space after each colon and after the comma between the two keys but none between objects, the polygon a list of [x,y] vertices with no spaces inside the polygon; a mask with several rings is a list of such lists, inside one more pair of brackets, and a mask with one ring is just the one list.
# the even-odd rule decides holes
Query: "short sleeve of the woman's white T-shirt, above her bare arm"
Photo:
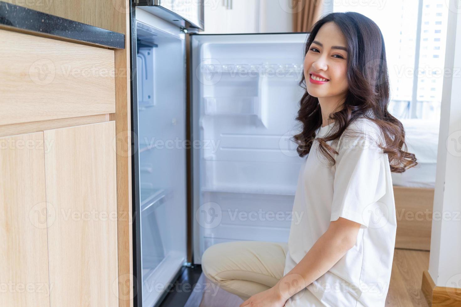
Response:
[{"label": "short sleeve of the woman's white T-shirt, above her bare arm", "polygon": [[386,192],[387,156],[367,133],[341,136],[338,149],[330,220],[343,217],[368,228],[370,210]]}]

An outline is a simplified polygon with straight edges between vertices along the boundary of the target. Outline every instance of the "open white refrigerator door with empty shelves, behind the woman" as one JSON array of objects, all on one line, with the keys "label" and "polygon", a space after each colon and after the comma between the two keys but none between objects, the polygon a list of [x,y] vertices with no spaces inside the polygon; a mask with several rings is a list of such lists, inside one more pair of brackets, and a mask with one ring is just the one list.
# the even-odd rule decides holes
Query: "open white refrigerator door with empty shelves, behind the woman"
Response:
[{"label": "open white refrigerator door with empty shelves, behind the woman", "polygon": [[288,241],[307,35],[190,36],[195,263],[215,243]]}]

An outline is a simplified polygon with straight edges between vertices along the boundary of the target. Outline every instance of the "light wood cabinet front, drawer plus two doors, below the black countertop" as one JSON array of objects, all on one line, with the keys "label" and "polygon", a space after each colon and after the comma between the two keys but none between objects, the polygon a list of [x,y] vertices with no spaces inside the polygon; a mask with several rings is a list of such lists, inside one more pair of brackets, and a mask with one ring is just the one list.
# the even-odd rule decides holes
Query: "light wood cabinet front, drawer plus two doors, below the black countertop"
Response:
[{"label": "light wood cabinet front, drawer plus two doors, below the black countertop", "polygon": [[0,41],[0,305],[129,304],[110,120],[129,80],[116,90],[115,51],[6,29]]}]

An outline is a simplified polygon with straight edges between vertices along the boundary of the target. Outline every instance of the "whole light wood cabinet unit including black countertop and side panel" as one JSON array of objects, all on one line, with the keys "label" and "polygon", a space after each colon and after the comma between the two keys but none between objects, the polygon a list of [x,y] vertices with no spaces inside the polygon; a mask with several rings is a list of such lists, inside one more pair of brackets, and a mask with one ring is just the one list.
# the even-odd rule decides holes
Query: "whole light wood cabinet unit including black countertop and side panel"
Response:
[{"label": "whole light wood cabinet unit including black countertop and side panel", "polygon": [[131,2],[48,2],[0,1],[0,306],[130,307]]}]

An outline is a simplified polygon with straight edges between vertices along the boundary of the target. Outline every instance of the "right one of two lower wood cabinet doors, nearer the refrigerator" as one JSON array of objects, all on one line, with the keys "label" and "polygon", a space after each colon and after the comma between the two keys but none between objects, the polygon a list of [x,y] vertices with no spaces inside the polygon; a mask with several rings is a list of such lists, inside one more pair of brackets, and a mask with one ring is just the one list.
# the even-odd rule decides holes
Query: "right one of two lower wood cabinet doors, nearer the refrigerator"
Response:
[{"label": "right one of two lower wood cabinet doors, nearer the refrigerator", "polygon": [[118,306],[115,122],[44,139],[51,306]]}]

